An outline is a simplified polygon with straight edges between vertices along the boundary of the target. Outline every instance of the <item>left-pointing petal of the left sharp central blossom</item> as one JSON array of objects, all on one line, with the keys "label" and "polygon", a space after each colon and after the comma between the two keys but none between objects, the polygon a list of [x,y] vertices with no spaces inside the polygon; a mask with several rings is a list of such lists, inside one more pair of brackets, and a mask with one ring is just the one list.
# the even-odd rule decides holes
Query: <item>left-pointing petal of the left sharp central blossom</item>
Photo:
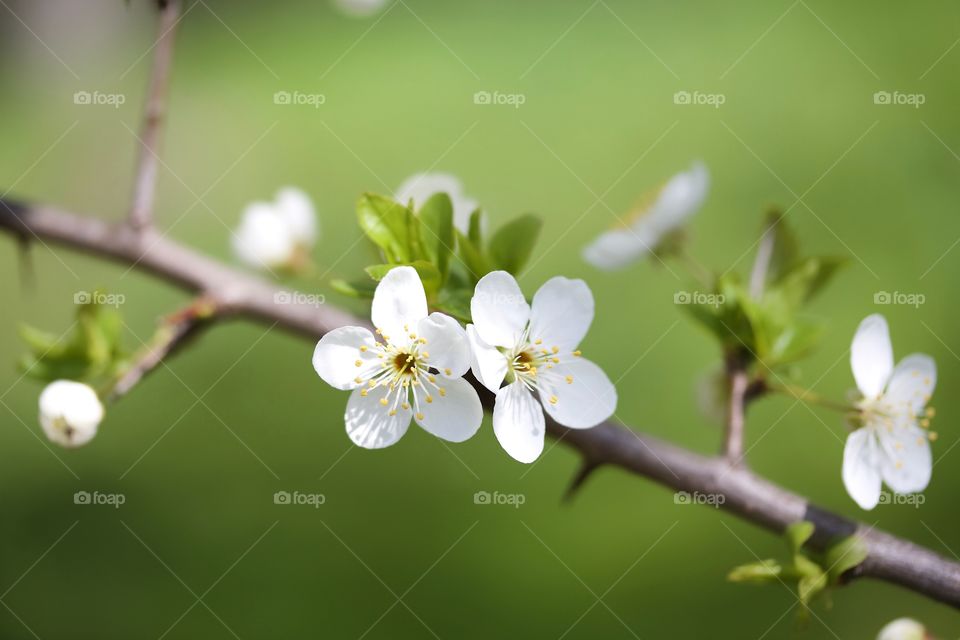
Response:
[{"label": "left-pointing petal of the left sharp central blossom", "polygon": [[377,353],[377,342],[368,330],[340,327],[320,338],[313,351],[313,368],[335,389],[356,389],[380,369]]}]

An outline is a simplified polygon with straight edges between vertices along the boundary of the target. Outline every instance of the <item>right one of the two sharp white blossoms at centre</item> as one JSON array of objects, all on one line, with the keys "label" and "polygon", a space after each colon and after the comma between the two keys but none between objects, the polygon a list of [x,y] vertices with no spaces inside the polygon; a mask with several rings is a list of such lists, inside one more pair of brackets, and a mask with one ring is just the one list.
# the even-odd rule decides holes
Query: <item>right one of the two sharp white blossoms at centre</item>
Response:
[{"label": "right one of the two sharp white blossoms at centre", "polygon": [[551,278],[529,305],[513,276],[494,271],[477,283],[470,313],[473,374],[497,394],[493,431],[511,456],[540,456],[544,410],[572,429],[613,414],[616,389],[577,350],[593,321],[593,294],[583,280]]}]

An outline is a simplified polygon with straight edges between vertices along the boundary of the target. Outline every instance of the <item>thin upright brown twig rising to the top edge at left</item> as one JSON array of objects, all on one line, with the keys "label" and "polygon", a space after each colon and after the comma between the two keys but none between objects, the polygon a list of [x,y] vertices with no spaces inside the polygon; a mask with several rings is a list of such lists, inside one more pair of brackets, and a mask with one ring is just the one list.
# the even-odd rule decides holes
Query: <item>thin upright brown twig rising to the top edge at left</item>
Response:
[{"label": "thin upright brown twig rising to the top edge at left", "polygon": [[147,102],[144,106],[143,128],[140,134],[140,161],[133,186],[133,203],[130,207],[130,225],[142,230],[153,221],[156,200],[157,173],[160,160],[157,148],[160,143],[164,105],[170,81],[170,64],[173,60],[173,42],[177,22],[180,19],[179,0],[160,0],[160,20],[157,26],[157,42],[154,45],[153,70]]}]

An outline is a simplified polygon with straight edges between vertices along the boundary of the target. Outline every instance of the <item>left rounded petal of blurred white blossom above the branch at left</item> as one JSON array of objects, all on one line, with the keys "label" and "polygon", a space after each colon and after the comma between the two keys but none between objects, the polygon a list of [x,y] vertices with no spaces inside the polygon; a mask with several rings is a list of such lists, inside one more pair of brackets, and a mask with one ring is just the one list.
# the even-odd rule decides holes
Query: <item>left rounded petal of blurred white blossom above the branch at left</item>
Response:
[{"label": "left rounded petal of blurred white blossom above the branch at left", "polygon": [[244,210],[233,235],[237,258],[257,269],[282,267],[293,259],[296,241],[273,205],[255,202]]}]

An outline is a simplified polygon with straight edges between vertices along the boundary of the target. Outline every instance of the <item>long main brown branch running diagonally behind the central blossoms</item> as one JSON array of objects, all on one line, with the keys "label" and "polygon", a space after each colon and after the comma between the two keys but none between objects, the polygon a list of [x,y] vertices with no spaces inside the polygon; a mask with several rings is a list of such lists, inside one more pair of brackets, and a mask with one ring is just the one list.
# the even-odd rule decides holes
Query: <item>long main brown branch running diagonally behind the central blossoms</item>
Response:
[{"label": "long main brown branch running diagonally behind the central blossoms", "polygon": [[[276,323],[310,339],[344,325],[366,325],[331,306],[317,308],[263,279],[233,269],[152,231],[139,234],[127,224],[108,224],[51,207],[26,206],[0,199],[0,229],[18,237],[36,237],[109,258],[153,273],[215,301],[224,315]],[[748,385],[745,394],[751,393]],[[490,392],[481,389],[489,408]],[[548,422],[548,433],[576,449],[584,460],[619,467],[674,490],[724,497],[721,507],[748,522],[782,533],[794,522],[816,525],[811,541],[822,549],[838,537],[859,534],[868,557],[848,574],[875,578],[960,608],[960,563],[861,523],[817,508],[805,498],[732,466],[656,438],[607,422],[593,429],[566,429]]]}]

